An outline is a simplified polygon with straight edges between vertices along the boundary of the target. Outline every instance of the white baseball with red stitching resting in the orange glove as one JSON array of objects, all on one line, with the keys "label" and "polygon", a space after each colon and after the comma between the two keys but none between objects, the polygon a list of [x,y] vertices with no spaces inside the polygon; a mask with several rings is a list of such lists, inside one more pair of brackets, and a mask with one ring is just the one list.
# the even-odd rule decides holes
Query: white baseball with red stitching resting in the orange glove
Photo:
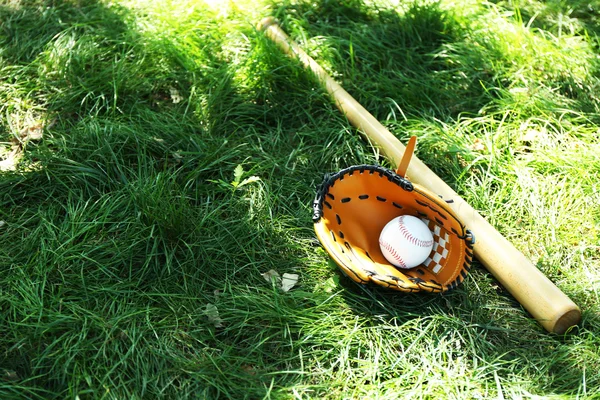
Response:
[{"label": "white baseball with red stitching resting in the orange glove", "polygon": [[398,268],[414,268],[433,249],[433,235],[417,217],[401,215],[386,224],[379,235],[379,247],[386,260]]}]

